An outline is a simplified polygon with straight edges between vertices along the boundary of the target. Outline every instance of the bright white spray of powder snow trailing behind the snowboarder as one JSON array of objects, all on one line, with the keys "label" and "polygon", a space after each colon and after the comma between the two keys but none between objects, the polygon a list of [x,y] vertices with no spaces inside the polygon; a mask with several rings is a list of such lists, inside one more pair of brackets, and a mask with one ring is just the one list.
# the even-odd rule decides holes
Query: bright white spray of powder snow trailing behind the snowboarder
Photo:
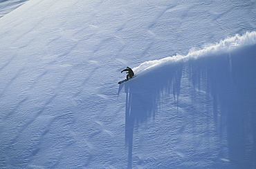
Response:
[{"label": "bright white spray of powder snow trailing behind the snowboarder", "polygon": [[236,34],[235,37],[228,37],[227,39],[221,40],[219,43],[206,45],[203,49],[192,48],[185,56],[176,54],[175,56],[165,57],[159,60],[145,61],[141,63],[140,66],[134,68],[134,72],[137,75],[144,74],[161,66],[185,62],[190,59],[197,59],[212,54],[231,52],[232,50],[243,48],[244,46],[252,46],[254,44],[256,44],[256,31],[246,32],[243,35]]}]

